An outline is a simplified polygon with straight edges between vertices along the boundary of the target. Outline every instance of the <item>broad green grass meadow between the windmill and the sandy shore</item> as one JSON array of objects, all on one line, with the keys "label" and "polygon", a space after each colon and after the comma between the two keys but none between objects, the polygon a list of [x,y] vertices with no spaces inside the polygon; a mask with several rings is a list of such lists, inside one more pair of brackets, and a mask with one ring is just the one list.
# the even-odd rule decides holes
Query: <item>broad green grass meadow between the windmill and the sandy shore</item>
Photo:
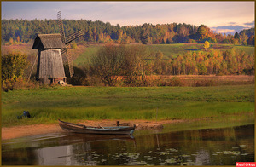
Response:
[{"label": "broad green grass meadow between the windmill and the sandy shore", "polygon": [[[18,120],[26,110],[32,118]],[[2,125],[81,119],[194,119],[254,112],[254,85],[49,87],[2,92]]]}]

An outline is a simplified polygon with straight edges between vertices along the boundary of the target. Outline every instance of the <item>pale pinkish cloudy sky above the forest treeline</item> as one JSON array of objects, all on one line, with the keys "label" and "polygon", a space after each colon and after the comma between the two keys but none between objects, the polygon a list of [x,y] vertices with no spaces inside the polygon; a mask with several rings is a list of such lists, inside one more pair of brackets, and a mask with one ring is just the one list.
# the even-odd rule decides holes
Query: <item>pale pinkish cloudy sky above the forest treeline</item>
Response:
[{"label": "pale pinkish cloudy sky above the forest treeline", "polygon": [[2,19],[101,20],[112,25],[186,23],[214,32],[254,27],[254,1],[2,1]]}]

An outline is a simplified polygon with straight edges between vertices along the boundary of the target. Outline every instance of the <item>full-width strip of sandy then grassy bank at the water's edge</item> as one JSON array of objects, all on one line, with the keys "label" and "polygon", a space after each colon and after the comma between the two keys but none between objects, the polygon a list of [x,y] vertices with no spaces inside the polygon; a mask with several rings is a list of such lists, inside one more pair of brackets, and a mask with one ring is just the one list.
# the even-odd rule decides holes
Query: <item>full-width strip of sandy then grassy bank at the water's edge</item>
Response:
[{"label": "full-width strip of sandy then grassy bank at the water's edge", "polygon": [[[245,112],[238,114],[230,114],[223,115],[221,118],[195,118],[195,119],[176,119],[176,120],[86,120],[86,121],[78,121],[76,123],[85,124],[87,126],[115,126],[116,122],[119,121],[121,125],[133,126],[136,125],[136,130],[162,130],[165,124],[171,124],[173,127],[179,127],[179,123],[188,123],[191,124],[193,122],[200,121],[230,121],[230,122],[243,122],[249,120],[249,122],[254,122],[254,112]],[[203,126],[203,124],[201,125]],[[213,127],[212,127],[213,128]],[[2,140],[15,139],[25,136],[32,135],[44,135],[49,133],[58,133],[63,132],[59,124],[32,124],[32,125],[19,125],[14,127],[3,127],[2,128]]]}]

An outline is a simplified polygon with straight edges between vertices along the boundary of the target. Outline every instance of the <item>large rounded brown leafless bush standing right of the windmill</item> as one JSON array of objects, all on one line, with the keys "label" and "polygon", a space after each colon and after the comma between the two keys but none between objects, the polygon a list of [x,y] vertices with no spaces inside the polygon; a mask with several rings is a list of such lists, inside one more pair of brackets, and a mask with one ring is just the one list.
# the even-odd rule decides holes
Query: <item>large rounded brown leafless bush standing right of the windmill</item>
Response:
[{"label": "large rounded brown leafless bush standing right of the windmill", "polygon": [[108,86],[115,86],[118,76],[125,83],[146,82],[148,52],[143,45],[108,44],[98,50],[91,59],[91,71]]}]

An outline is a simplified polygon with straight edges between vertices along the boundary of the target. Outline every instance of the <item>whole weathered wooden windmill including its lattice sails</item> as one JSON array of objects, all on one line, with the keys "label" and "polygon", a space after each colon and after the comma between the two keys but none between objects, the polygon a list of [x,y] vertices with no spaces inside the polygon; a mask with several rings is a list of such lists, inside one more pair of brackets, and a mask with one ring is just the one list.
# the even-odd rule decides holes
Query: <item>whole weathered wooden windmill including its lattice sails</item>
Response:
[{"label": "whole weathered wooden windmill including its lattice sails", "polygon": [[58,12],[57,23],[60,33],[38,34],[32,46],[32,49],[38,49],[37,78],[43,84],[67,82],[61,55],[67,56],[70,77],[73,77],[73,60],[68,46],[73,40],[84,35],[84,32],[79,31],[66,37],[61,12]]}]

